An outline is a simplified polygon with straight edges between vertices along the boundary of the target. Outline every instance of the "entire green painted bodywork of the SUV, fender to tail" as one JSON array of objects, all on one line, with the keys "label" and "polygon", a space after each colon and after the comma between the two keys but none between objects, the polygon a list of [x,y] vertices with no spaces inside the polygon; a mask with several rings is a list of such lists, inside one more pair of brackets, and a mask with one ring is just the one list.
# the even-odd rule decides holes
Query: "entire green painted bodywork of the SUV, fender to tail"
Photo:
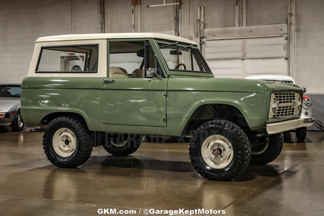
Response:
[{"label": "entire green painted bodywork of the SUV, fender to tail", "polygon": [[[169,71],[154,39],[108,40],[108,48],[109,41],[116,40],[148,40],[167,78],[109,78],[109,65],[107,77],[25,78],[21,91],[24,122],[37,126],[48,114],[67,112],[83,116],[91,131],[180,136],[191,115],[204,104],[236,107],[252,130],[300,117],[299,113],[269,119],[271,93],[293,91],[302,97],[296,85]],[[103,82],[109,79],[114,81]]]}]

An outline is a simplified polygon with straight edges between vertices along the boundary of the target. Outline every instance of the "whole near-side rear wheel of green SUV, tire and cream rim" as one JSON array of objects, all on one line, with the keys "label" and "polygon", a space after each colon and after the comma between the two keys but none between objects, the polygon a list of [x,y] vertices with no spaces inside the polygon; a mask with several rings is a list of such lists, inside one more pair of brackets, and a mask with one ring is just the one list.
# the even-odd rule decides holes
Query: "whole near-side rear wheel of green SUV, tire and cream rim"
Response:
[{"label": "whole near-side rear wheel of green SUV, tire and cream rim", "polygon": [[78,119],[54,118],[43,135],[43,148],[48,160],[57,167],[74,168],[91,155],[92,142],[87,125]]}]

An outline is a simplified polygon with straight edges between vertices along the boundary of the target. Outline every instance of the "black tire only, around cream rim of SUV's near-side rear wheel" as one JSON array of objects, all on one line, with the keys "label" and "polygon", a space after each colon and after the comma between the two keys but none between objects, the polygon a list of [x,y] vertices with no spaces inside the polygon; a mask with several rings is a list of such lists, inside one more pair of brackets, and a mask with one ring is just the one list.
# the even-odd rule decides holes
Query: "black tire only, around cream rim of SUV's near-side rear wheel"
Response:
[{"label": "black tire only, around cream rim of SUV's near-side rear wheel", "polygon": [[[59,156],[53,149],[53,135],[60,128],[70,129],[76,138],[76,148],[69,157]],[[54,118],[46,127],[43,135],[43,148],[48,160],[57,167],[74,168],[84,164],[91,155],[92,142],[90,132],[84,121],[62,116]]]}]

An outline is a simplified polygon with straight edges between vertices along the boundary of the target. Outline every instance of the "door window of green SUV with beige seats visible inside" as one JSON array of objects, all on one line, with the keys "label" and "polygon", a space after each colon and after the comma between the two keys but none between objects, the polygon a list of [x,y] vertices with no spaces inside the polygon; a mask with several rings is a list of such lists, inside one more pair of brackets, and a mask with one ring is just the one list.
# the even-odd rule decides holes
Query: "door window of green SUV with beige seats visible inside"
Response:
[{"label": "door window of green SUV with beige seats visible inside", "polygon": [[148,41],[109,42],[110,77],[145,78],[145,69],[148,67],[156,68],[164,77]]}]

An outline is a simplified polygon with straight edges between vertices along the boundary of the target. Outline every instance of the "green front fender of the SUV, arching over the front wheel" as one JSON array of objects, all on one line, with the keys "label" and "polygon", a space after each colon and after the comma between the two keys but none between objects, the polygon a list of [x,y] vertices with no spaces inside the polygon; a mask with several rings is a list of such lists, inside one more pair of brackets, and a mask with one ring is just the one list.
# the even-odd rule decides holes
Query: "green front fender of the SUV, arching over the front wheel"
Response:
[{"label": "green front fender of the SUV, arching over the front wheel", "polygon": [[199,106],[215,103],[236,107],[252,130],[262,129],[265,87],[255,80],[172,76],[168,82],[168,132],[175,135],[174,128],[184,128]]}]

